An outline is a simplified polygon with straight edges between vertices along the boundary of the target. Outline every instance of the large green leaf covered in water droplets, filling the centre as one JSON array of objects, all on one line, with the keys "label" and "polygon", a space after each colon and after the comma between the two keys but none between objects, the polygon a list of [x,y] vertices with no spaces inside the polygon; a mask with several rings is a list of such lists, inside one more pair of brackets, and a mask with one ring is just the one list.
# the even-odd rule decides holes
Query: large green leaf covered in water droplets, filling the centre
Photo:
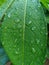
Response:
[{"label": "large green leaf covered in water droplets, filling the centre", "polygon": [[2,44],[14,65],[43,65],[46,22],[38,0],[15,0],[2,23]]}]

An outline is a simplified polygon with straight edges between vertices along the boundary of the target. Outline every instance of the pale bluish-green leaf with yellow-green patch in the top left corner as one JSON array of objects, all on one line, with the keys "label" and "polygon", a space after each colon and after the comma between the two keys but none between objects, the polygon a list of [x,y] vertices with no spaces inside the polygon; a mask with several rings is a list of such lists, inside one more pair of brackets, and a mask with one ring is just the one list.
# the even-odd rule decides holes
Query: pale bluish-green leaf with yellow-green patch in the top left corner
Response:
[{"label": "pale bluish-green leaf with yellow-green patch in the top left corner", "polygon": [[0,20],[6,14],[5,12],[13,3],[14,0],[0,0]]}]

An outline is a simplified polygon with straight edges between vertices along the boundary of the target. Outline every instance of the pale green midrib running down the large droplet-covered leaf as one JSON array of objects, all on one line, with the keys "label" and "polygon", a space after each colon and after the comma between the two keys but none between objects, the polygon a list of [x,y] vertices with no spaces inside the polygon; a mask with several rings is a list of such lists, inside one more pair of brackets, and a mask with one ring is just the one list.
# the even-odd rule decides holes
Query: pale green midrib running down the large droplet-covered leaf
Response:
[{"label": "pale green midrib running down the large droplet-covered leaf", "polygon": [[24,22],[23,22],[23,56],[22,56],[23,63],[22,63],[22,65],[24,65],[24,38],[25,38],[26,9],[27,9],[27,0],[25,0],[25,7],[24,7]]}]

